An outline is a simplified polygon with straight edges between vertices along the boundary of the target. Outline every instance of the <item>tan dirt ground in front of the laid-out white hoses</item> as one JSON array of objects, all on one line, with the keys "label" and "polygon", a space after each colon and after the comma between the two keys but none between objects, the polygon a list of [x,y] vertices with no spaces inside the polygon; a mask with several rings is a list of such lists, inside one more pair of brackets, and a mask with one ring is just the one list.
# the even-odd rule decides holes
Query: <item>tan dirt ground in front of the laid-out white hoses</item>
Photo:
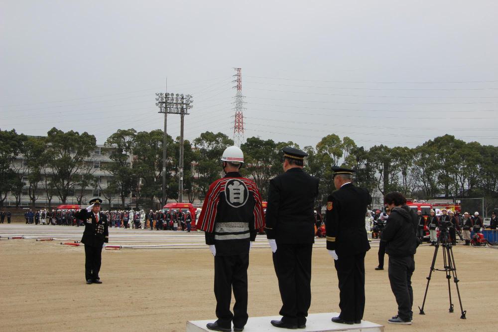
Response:
[{"label": "tan dirt ground in front of the laid-out white hoses", "polygon": [[[374,271],[377,247],[366,257],[365,320],[385,331],[497,331],[498,250],[457,245],[454,254],[467,320],[460,319],[455,285],[455,312],[448,313],[444,272],[434,272],[425,316],[422,305],[434,248],[422,245],[413,275],[414,317],[411,326],[392,326],[396,303],[387,271]],[[440,249],[438,264],[442,267]],[[386,257],[387,265],[387,257]],[[29,239],[0,240],[1,331],[185,331],[188,320],[215,318],[213,257],[204,249],[104,250],[102,285],[86,285],[84,250]],[[324,248],[313,252],[310,313],[338,312],[337,275]],[[276,316],[280,309],[270,249],[251,250],[249,317]],[[269,322],[268,322],[269,324]]]}]

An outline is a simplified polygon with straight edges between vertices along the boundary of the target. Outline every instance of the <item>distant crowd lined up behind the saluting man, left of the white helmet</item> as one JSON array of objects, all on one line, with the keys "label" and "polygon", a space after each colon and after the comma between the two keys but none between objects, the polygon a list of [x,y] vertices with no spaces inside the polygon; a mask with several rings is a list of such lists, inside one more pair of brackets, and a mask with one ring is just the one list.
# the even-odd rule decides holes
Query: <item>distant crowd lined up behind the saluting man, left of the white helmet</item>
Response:
[{"label": "distant crowd lined up behind the saluting man, left of the white helmet", "polygon": [[[83,221],[79,220],[75,214],[78,210],[35,210],[29,209],[24,213],[26,224],[46,224],[62,226],[81,226]],[[193,217],[190,211],[182,210],[150,210],[145,213],[143,210],[116,210],[102,211],[106,215],[109,227],[114,228],[135,228],[135,229],[156,229],[156,230],[186,230],[192,229]],[[1,211],[0,220],[3,223],[4,217],[10,223],[11,213]]]}]

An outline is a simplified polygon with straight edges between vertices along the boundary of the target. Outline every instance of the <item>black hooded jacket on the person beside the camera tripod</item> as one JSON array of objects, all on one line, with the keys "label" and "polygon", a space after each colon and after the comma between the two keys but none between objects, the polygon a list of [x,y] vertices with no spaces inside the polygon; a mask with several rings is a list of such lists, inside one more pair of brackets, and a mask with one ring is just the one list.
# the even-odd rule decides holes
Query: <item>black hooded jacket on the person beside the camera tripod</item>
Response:
[{"label": "black hooded jacket on the person beside the camera tripod", "polygon": [[417,215],[406,205],[391,210],[381,239],[385,252],[392,256],[411,256],[417,251]]}]

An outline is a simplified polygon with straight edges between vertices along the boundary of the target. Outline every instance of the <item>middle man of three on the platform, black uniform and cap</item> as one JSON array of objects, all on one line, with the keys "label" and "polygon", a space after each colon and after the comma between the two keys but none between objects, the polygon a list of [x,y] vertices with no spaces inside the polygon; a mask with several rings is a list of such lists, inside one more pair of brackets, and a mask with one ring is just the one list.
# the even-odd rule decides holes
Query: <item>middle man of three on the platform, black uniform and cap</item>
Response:
[{"label": "middle man of three on the platform, black uniform and cap", "polygon": [[313,208],[318,179],[303,171],[305,152],[292,147],[282,150],[284,173],[270,180],[266,207],[266,236],[273,251],[282,299],[282,319],[271,324],[278,328],[302,329],[306,327],[311,304]]}]

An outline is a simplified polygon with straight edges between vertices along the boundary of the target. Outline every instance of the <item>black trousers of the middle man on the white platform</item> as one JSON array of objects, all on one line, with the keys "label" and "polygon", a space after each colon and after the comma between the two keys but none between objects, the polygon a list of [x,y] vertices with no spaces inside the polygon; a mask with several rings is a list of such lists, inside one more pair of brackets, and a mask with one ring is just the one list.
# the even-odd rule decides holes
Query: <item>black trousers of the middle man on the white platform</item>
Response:
[{"label": "black trousers of the middle man on the white platform", "polygon": [[310,244],[278,244],[273,253],[273,266],[282,298],[279,314],[289,325],[304,325],[311,305]]}]

